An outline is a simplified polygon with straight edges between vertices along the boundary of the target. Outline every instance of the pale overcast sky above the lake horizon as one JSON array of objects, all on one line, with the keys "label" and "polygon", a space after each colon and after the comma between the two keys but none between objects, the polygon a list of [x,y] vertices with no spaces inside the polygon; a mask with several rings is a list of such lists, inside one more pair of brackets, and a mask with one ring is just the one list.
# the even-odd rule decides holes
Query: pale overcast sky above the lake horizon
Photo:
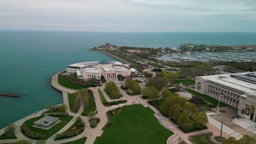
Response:
[{"label": "pale overcast sky above the lake horizon", "polygon": [[255,0],[0,0],[1,30],[256,32]]}]

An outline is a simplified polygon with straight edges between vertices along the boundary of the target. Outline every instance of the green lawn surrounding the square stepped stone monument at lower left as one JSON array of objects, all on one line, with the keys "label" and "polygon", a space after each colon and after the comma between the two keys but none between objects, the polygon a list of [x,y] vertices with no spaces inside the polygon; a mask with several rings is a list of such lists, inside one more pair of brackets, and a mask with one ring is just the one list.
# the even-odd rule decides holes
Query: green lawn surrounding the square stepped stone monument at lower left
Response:
[{"label": "green lawn surrounding the square stepped stone monument at lower left", "polygon": [[44,130],[44,129],[39,129],[39,128],[34,128],[32,127],[34,125],[34,122],[36,122],[38,119],[42,118],[44,116],[40,116],[40,117],[35,117],[35,118],[31,118],[28,119],[26,122],[24,122],[23,124],[26,124],[28,126],[28,128],[30,128],[34,133],[39,133],[39,134],[43,134],[43,135],[48,135],[48,137],[50,137],[51,135],[54,135],[55,133],[57,133],[57,131],[61,130],[63,127],[65,127],[65,125],[71,121],[71,119],[73,118],[73,116],[65,116],[65,115],[51,115],[51,117],[57,117],[60,118],[59,120],[61,121],[60,123],[54,125],[54,127],[50,128],[49,130]]}]

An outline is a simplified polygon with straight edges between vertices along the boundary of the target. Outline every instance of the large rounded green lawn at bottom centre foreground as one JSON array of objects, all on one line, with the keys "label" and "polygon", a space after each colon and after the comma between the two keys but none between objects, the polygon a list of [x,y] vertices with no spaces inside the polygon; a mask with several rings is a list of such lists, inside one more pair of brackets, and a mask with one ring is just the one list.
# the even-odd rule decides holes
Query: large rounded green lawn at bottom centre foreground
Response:
[{"label": "large rounded green lawn at bottom centre foreground", "polygon": [[166,143],[173,133],[158,122],[154,112],[142,105],[125,106],[115,113],[113,124],[104,130],[97,143]]}]

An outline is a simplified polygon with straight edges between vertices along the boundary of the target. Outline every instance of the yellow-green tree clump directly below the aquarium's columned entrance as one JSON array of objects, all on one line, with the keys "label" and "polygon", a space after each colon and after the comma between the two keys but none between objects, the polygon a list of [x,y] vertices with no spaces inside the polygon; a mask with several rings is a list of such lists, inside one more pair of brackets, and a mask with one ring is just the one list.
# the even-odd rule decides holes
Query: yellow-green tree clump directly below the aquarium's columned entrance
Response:
[{"label": "yellow-green tree clump directly below the aquarium's columned entrance", "polygon": [[110,98],[119,98],[121,96],[118,86],[113,81],[106,83],[105,91]]}]

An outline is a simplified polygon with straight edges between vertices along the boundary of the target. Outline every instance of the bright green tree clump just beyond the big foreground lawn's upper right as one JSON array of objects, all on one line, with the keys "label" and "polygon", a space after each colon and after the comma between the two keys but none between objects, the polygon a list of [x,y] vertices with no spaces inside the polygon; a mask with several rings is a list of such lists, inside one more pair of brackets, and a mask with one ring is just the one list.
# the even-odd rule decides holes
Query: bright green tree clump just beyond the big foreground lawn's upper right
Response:
[{"label": "bright green tree clump just beyond the big foreground lawn's upper right", "polygon": [[154,86],[142,89],[142,96],[148,97],[149,100],[156,100],[159,98],[159,91]]}]

